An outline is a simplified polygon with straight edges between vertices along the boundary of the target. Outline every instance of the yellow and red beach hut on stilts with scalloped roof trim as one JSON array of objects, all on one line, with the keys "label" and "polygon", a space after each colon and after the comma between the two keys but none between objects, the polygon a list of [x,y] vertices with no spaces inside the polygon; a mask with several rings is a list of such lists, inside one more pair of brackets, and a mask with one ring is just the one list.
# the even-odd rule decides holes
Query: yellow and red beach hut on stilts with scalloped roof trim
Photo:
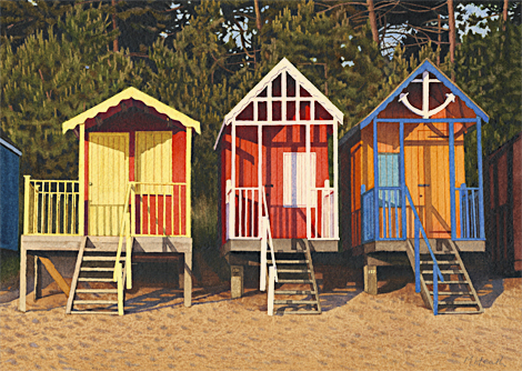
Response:
[{"label": "yellow and red beach hut on stilts with scalloped roof trim", "polygon": [[[109,305],[122,314],[134,255],[184,254],[181,282],[190,305],[191,143],[199,122],[128,88],[62,128],[79,139],[79,179],[26,176],[20,310],[26,310],[28,251],[68,295],[68,313]],[[44,257],[50,251],[78,251],[71,287]],[[117,287],[103,287],[108,282]]]}]

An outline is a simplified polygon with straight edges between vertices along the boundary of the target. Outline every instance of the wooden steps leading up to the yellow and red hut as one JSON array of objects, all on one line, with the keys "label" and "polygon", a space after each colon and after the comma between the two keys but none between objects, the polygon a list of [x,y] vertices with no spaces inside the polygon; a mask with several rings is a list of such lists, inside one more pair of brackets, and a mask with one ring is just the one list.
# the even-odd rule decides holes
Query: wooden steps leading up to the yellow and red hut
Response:
[{"label": "wooden steps leading up to the yellow and red hut", "polygon": [[[124,263],[124,255],[120,261]],[[80,248],[66,313],[118,314],[114,263],[113,252],[96,252]]]}]

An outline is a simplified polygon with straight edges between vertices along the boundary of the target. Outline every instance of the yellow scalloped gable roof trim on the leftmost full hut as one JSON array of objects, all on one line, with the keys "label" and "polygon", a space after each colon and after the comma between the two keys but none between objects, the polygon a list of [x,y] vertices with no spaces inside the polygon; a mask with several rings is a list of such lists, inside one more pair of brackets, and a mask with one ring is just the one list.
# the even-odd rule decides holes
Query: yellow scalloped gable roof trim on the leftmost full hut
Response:
[{"label": "yellow scalloped gable roof trim on the leftmost full hut", "polygon": [[198,133],[201,133],[200,123],[187,114],[181,113],[180,111],[174,110],[173,108],[160,102],[158,99],[145,94],[144,92],[131,87],[122,92],[119,92],[112,98],[101,102],[98,106],[92,107],[83,113],[78,114],[77,117],[63,122],[62,130],[66,133],[68,130],[74,129],[77,126],[84,124],[88,119],[93,119],[98,113],[107,112],[111,107],[118,106],[121,101],[127,99],[134,99],[143,102],[144,104],[154,108],[159,113],[168,116],[173,121],[181,122],[182,126],[187,128],[193,128]]}]

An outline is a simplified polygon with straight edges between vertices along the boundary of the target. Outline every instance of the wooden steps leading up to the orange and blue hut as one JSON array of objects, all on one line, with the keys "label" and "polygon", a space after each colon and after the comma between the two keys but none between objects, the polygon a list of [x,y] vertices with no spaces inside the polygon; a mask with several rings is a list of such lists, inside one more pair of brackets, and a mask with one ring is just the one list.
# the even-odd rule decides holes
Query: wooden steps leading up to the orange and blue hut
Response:
[{"label": "wooden steps leading up to the orange and blue hut", "polygon": [[[406,243],[410,263],[415,270],[415,255],[413,241]],[[464,263],[453,241],[449,241],[451,250],[436,253],[435,259],[444,282],[438,280],[436,302],[439,314],[476,314],[484,310],[465,270]],[[428,308],[433,310],[433,267],[431,254],[420,257],[421,295]],[[471,310],[474,308],[474,310]],[[459,311],[458,309],[463,309]]]}]

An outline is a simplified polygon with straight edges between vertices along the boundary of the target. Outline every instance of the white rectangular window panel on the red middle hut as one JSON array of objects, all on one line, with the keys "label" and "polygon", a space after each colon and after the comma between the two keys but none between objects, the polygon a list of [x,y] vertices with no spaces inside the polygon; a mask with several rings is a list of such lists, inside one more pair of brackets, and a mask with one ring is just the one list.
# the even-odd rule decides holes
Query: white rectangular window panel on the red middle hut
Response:
[{"label": "white rectangular window panel on the red middle hut", "polygon": [[[283,153],[283,205],[288,208],[307,207],[307,153]],[[310,153],[310,187],[315,184],[315,153]],[[311,192],[310,205],[315,207],[317,192]]]}]

